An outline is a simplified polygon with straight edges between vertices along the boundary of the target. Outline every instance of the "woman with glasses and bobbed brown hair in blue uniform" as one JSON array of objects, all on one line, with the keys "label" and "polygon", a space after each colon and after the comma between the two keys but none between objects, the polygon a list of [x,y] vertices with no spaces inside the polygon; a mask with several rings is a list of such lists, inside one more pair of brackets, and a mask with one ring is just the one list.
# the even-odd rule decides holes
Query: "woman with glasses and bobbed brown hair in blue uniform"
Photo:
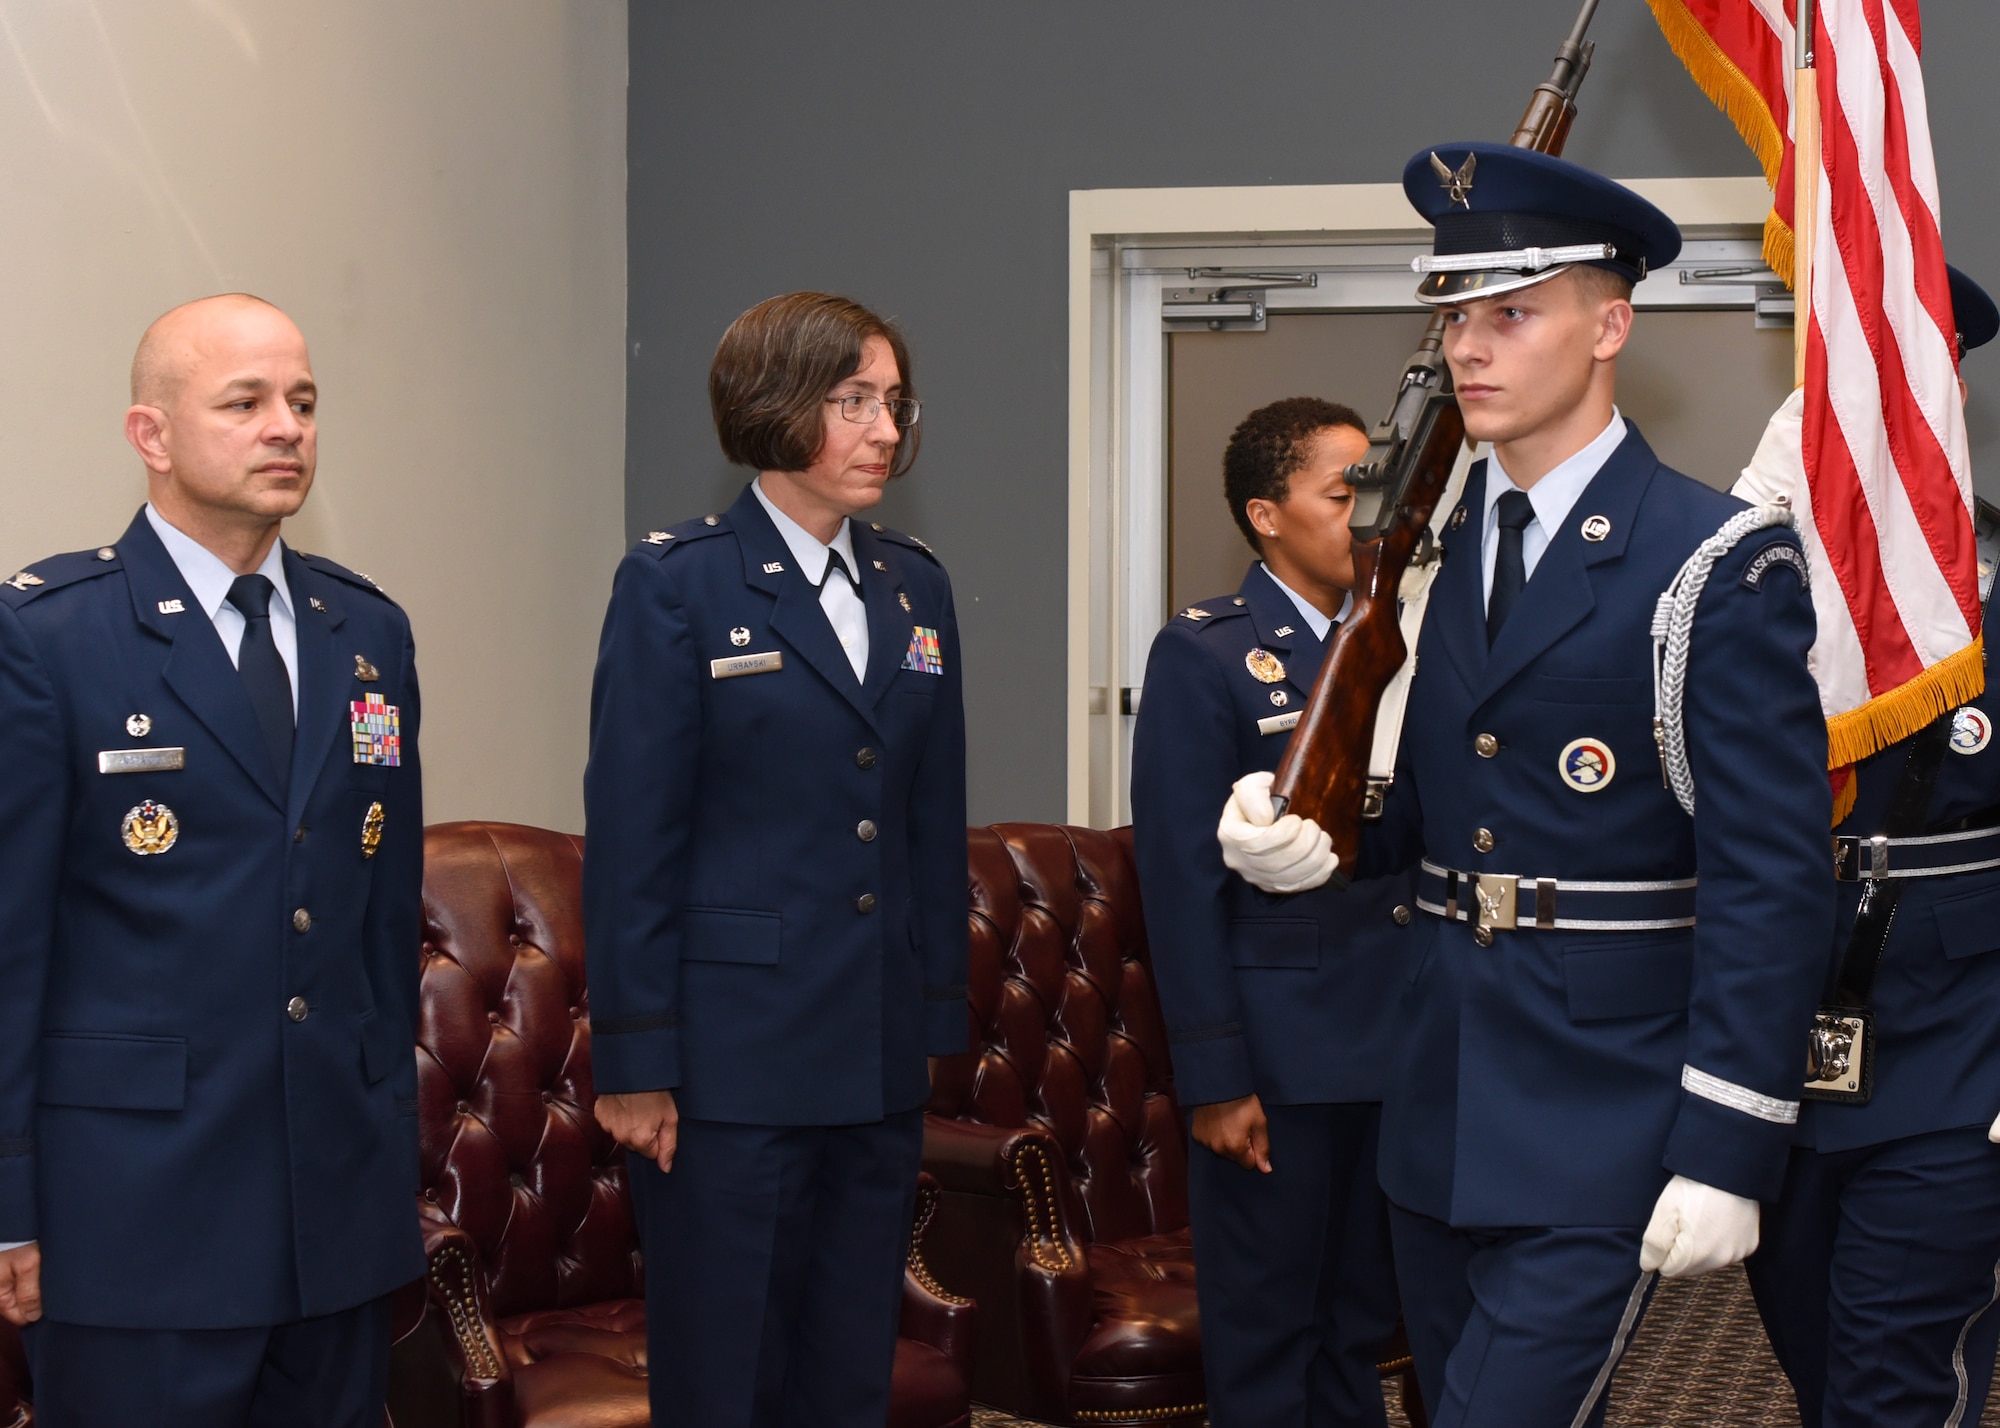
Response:
[{"label": "woman with glasses and bobbed brown hair in blue uniform", "polygon": [[598,646],[596,1114],[632,1152],[654,1422],[880,1428],[926,1056],[966,1046],[952,588],[856,520],[916,456],[888,322],[772,298],[708,394],[758,476],[634,546]]}]

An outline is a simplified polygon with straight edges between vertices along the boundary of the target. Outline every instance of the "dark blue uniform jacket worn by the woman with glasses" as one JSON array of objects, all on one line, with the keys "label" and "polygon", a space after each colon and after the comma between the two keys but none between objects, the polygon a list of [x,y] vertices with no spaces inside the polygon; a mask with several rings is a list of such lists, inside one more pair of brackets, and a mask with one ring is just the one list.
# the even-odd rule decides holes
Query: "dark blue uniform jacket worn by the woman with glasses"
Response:
[{"label": "dark blue uniform jacket worn by the woman with glasses", "polygon": [[952,586],[852,522],[868,674],[756,496],[618,566],[590,708],[584,930],[600,1092],[838,1126],[966,1048],[966,726]]}]

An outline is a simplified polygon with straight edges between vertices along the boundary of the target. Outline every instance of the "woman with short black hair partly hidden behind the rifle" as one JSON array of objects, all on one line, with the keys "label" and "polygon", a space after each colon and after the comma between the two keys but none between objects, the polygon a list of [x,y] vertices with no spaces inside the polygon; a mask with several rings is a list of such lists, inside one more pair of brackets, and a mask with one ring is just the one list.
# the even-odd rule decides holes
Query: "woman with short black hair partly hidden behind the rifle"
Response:
[{"label": "woman with short black hair partly hidden behind the rifle", "polygon": [[1132,836],[1174,1088],[1192,1108],[1188,1210],[1216,1428],[1382,1424],[1396,1328],[1382,1088],[1408,980],[1408,874],[1276,898],[1222,862],[1216,806],[1278,766],[1354,586],[1342,472],[1360,418],[1252,412],[1224,456],[1258,552],[1242,588],[1152,642],[1132,732]]}]

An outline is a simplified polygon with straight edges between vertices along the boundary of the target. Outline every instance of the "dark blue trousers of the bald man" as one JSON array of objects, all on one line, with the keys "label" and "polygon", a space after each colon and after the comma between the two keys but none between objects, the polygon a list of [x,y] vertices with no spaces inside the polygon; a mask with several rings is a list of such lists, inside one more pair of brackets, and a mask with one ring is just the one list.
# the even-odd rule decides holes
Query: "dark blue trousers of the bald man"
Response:
[{"label": "dark blue trousers of the bald man", "polygon": [[22,1332],[36,1428],[382,1428],[390,1296],[270,1328]]}]

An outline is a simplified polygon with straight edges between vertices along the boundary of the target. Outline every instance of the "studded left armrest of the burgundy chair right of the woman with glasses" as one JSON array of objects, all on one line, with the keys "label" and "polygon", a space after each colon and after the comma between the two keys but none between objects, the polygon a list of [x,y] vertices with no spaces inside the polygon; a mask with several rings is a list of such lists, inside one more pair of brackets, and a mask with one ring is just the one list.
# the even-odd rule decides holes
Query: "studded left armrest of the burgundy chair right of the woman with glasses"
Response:
[{"label": "studded left armrest of the burgundy chair right of the woman with glasses", "polygon": [[1096,1318],[1068,1170],[1038,1126],[924,1118],[924,1170],[942,1190],[924,1260],[980,1306],[972,1396],[1062,1422],[1076,1352]]}]

